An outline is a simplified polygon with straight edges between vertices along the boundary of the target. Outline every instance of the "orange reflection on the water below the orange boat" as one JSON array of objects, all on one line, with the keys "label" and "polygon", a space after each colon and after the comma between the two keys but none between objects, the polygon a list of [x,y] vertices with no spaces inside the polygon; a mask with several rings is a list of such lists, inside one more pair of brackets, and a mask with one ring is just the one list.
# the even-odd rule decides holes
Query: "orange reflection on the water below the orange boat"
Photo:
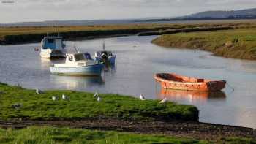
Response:
[{"label": "orange reflection on the water below the orange boat", "polygon": [[223,91],[182,91],[161,88],[157,93],[158,99],[165,97],[174,102],[187,101],[190,103],[207,102],[208,99],[225,100],[226,94]]}]

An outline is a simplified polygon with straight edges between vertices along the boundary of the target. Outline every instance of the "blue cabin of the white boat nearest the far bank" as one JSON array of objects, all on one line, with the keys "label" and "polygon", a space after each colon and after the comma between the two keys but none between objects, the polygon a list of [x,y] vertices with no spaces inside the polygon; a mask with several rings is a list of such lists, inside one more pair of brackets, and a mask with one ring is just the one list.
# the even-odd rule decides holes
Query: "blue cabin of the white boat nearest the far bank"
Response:
[{"label": "blue cabin of the white boat nearest the far bank", "polygon": [[65,47],[63,37],[44,37],[41,44],[42,49],[62,50]]}]

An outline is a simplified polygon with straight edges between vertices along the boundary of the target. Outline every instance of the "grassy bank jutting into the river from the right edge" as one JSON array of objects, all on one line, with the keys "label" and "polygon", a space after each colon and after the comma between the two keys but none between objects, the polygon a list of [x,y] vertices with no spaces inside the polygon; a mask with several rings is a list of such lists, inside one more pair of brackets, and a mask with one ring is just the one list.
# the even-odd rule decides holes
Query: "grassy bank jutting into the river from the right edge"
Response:
[{"label": "grassy bank jutting into the river from the right edge", "polygon": [[164,47],[199,48],[227,58],[256,59],[256,29],[165,34],[152,42]]}]

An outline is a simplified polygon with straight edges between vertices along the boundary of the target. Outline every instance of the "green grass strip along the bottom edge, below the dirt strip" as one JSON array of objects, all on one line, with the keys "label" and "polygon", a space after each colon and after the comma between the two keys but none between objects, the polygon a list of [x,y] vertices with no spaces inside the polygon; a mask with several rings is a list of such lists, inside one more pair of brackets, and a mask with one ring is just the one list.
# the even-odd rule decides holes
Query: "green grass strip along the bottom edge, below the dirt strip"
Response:
[{"label": "green grass strip along the bottom edge, below the dirt strip", "polygon": [[[104,132],[31,126],[26,129],[0,129],[1,143],[212,143],[192,138],[167,137],[127,132]],[[227,137],[214,143],[256,143],[250,138]]]}]

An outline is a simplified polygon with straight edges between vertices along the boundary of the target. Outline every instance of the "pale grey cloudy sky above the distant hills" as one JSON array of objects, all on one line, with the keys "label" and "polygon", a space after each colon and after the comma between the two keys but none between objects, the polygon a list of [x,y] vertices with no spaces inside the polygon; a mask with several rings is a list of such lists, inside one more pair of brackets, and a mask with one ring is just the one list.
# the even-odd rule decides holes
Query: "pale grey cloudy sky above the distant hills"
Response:
[{"label": "pale grey cloudy sky above the distant hills", "polygon": [[0,0],[0,23],[176,17],[255,7],[256,0]]}]

